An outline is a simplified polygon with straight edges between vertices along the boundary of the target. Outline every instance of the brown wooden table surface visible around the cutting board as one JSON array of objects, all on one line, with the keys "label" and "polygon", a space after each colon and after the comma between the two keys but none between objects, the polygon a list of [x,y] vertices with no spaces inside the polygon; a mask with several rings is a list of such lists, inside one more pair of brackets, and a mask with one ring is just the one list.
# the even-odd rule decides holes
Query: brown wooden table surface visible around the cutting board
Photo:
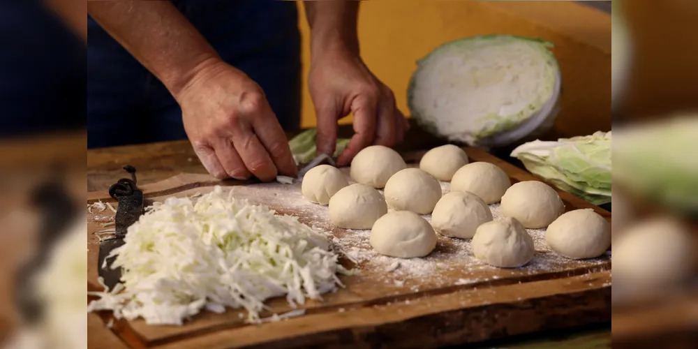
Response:
[{"label": "brown wooden table surface visible around the cutting board", "polygon": [[[351,134],[350,126],[340,127],[340,137]],[[289,135],[290,136],[290,135]],[[442,144],[419,128],[410,129],[406,137],[408,144],[398,150],[429,149]],[[507,154],[507,150],[503,151]],[[502,156],[507,158],[508,156]],[[87,151],[87,190],[107,189],[115,180],[124,176],[123,167],[133,165],[138,169],[139,184],[147,184],[173,177],[181,172],[206,173],[188,141],[136,144],[124,147],[90,149]],[[482,343],[481,348],[609,348],[611,346],[611,325],[602,324],[583,329],[556,331],[535,335],[519,336]],[[97,343],[95,343],[97,344]]]}]

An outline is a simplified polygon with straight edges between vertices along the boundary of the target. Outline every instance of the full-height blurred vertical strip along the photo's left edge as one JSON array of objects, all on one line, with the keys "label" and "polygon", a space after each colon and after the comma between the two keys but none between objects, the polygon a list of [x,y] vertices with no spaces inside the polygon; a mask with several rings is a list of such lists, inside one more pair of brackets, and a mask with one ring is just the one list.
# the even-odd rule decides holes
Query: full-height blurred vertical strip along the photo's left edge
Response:
[{"label": "full-height blurred vertical strip along the photo's left edge", "polygon": [[0,1],[0,348],[86,348],[87,3]]}]

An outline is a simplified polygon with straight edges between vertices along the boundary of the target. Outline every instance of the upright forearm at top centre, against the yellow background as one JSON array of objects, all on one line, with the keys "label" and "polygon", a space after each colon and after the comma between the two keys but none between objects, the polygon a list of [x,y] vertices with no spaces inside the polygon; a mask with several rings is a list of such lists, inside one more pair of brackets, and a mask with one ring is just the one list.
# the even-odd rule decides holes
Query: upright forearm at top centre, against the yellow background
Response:
[{"label": "upright forearm at top centre, against the yellow background", "polygon": [[359,1],[304,1],[303,4],[311,27],[311,57],[333,49],[359,54]]}]

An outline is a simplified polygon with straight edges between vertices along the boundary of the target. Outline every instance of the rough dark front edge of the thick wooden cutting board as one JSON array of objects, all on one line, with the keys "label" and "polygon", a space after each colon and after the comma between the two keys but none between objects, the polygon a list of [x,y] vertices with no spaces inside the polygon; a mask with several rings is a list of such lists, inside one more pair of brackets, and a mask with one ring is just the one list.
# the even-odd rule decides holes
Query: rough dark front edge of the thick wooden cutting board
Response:
[{"label": "rough dark front edge of the thick wooden cutting board", "polygon": [[[610,272],[585,274],[568,279],[505,285],[489,290],[496,300],[472,301],[482,290],[454,292],[430,297],[406,307],[401,303],[364,307],[345,313],[305,315],[263,327],[248,326],[218,331],[172,343],[149,343],[158,348],[308,348],[346,346],[431,348],[475,343],[514,334],[537,332],[611,320]],[[594,287],[590,288],[589,284]],[[419,304],[417,302],[417,304]],[[551,311],[545,315],[540,311]],[[304,329],[302,335],[292,331]],[[260,343],[260,339],[263,340]]]}]

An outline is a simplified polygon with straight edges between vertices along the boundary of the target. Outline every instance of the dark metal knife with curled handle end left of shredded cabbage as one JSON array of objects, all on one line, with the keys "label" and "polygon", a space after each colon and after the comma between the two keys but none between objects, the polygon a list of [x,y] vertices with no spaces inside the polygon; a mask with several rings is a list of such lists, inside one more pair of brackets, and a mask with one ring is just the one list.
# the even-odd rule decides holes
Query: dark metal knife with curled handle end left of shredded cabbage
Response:
[{"label": "dark metal knife with curled handle end left of shredded cabbage", "polygon": [[98,274],[110,290],[121,280],[121,268],[112,268],[116,256],[110,257],[110,254],[124,245],[128,227],[143,214],[143,192],[136,186],[135,168],[129,165],[124,167],[124,170],[131,174],[131,179],[119,179],[109,188],[109,195],[119,202],[114,218],[116,231],[113,237],[103,239],[99,243]]}]

